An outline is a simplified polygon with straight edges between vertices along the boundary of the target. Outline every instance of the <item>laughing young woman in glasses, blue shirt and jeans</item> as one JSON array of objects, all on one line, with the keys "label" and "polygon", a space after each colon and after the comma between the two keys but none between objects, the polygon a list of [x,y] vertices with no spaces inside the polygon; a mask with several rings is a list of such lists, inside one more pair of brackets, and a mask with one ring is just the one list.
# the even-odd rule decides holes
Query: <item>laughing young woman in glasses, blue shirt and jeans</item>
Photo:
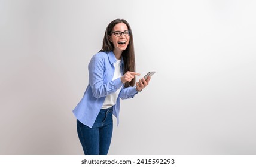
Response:
[{"label": "laughing young woman in glasses, blue shirt and jeans", "polygon": [[135,76],[133,36],[129,23],[116,19],[106,27],[102,49],[92,57],[89,85],[73,113],[84,154],[108,154],[112,138],[112,115],[117,117],[120,98],[133,98],[150,81]]}]

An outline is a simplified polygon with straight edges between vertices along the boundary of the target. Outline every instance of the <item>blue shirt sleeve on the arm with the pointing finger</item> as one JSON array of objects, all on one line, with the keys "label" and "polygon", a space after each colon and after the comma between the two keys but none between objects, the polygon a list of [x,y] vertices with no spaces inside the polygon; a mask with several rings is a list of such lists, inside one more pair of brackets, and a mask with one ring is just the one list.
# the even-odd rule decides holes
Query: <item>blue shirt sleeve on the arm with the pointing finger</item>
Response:
[{"label": "blue shirt sleeve on the arm with the pointing finger", "polygon": [[105,60],[102,57],[94,56],[88,66],[89,84],[95,98],[105,97],[123,86],[120,78],[104,84]]}]

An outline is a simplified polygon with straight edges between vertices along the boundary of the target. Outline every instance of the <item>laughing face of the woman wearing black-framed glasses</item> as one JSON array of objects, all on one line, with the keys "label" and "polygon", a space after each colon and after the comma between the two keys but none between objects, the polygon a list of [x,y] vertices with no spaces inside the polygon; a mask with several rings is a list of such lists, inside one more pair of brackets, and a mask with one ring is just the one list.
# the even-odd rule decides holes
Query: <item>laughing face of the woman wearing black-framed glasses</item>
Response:
[{"label": "laughing face of the woman wearing black-framed glasses", "polygon": [[[112,32],[115,32],[115,33],[112,33],[111,35],[109,35],[109,40],[114,45],[114,51],[122,52],[122,51],[126,50],[128,44],[130,42],[129,32],[127,32],[127,31],[128,31],[128,27],[124,23],[118,23],[112,29]],[[119,36],[120,34],[121,34],[121,36]]]}]

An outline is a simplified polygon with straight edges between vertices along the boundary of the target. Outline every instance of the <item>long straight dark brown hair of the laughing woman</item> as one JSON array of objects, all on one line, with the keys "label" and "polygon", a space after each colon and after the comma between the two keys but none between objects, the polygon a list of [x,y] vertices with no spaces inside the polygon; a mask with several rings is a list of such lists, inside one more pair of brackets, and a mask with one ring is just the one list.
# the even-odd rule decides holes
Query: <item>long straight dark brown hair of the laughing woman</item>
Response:
[{"label": "long straight dark brown hair of the laughing woman", "polygon": [[[123,57],[124,60],[124,68],[123,73],[126,73],[127,71],[135,72],[135,54],[134,54],[134,47],[133,47],[133,36],[132,36],[132,29],[130,28],[129,23],[124,19],[115,19],[111,21],[111,23],[108,24],[108,27],[106,27],[106,32],[103,39],[102,49],[101,51],[113,51],[114,45],[109,41],[108,36],[111,35],[111,32],[114,28],[114,26],[118,23],[124,23],[128,27],[128,30],[130,31],[130,42],[126,48],[122,52],[121,57]],[[136,79],[133,78],[132,81],[126,82],[124,84],[124,87],[134,86],[136,82]]]}]

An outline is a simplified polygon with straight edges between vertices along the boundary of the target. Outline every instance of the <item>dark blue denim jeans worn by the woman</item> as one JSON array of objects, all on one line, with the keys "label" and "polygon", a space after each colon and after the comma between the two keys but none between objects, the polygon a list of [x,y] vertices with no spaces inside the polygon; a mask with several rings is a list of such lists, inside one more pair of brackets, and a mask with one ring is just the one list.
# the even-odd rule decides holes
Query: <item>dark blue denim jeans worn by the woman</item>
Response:
[{"label": "dark blue denim jeans worn by the woman", "polygon": [[92,128],[77,120],[77,133],[85,155],[106,155],[113,131],[113,107],[101,109]]}]

